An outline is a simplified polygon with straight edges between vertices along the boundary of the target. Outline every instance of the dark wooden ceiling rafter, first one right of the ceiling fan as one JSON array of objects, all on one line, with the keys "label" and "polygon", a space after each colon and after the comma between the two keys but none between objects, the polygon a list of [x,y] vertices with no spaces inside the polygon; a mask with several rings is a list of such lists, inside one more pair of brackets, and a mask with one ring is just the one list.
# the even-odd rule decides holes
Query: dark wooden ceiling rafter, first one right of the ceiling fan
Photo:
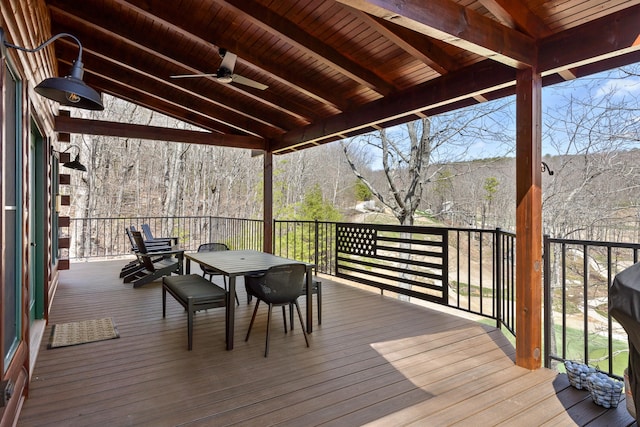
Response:
[{"label": "dark wooden ceiling rafter, first one right of the ceiling fan", "polygon": [[333,47],[321,42],[291,21],[257,2],[247,0],[215,1],[242,14],[245,19],[250,19],[253,24],[263,28],[265,31],[276,33],[280,39],[286,40],[287,43],[301,49],[317,61],[338,70],[369,89],[382,95],[388,95],[396,89],[392,83],[385,81],[373,71],[353,62]]}]

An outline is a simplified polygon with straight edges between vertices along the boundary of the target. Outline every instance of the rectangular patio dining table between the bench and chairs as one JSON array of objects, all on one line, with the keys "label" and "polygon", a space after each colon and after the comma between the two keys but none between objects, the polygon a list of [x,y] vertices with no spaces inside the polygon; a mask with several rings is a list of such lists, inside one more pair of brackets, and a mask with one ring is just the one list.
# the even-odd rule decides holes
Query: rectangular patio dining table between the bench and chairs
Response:
[{"label": "rectangular patio dining table between the bench and chairs", "polygon": [[[236,293],[236,277],[238,276],[266,271],[271,267],[282,264],[304,264],[307,269],[307,332],[311,333],[313,331],[313,304],[311,304],[310,301],[312,287],[311,272],[315,267],[315,264],[282,258],[260,251],[196,252],[185,253],[184,257],[187,260],[187,265],[185,268],[186,274],[189,274],[191,272],[191,261],[193,261],[227,276],[229,278],[229,295],[235,295]],[[235,301],[233,298],[227,298],[226,313],[227,350],[232,350],[235,319]]]}]

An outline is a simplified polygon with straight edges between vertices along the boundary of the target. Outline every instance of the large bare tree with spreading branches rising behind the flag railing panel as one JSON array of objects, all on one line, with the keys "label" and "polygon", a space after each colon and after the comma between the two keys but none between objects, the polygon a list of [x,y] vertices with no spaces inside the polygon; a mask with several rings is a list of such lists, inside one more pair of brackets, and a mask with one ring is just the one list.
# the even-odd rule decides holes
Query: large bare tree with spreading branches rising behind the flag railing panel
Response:
[{"label": "large bare tree with spreading branches rising behind the flag railing panel", "polygon": [[[424,189],[436,180],[447,162],[468,159],[476,144],[509,150],[506,114],[509,101],[496,101],[440,116],[424,117],[393,129],[351,138],[342,143],[344,154],[359,179],[389,208],[402,225],[412,225],[423,202]],[[507,147],[507,148],[505,148]],[[353,160],[359,150],[379,153],[386,189],[365,176]],[[447,179],[453,178],[453,175]]]}]

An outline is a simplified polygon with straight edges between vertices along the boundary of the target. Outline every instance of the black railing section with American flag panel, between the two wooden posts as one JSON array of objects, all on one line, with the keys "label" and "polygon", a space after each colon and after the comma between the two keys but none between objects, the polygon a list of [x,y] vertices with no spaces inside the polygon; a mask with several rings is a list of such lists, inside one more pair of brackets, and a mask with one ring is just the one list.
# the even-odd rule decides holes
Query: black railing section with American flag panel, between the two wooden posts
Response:
[{"label": "black railing section with American flag panel, between the two wooden posts", "polygon": [[[364,253],[367,245],[371,254]],[[344,277],[381,292],[391,291],[494,319],[497,326],[515,335],[513,233],[500,229],[274,221],[274,253],[313,262],[320,273]]]}]

